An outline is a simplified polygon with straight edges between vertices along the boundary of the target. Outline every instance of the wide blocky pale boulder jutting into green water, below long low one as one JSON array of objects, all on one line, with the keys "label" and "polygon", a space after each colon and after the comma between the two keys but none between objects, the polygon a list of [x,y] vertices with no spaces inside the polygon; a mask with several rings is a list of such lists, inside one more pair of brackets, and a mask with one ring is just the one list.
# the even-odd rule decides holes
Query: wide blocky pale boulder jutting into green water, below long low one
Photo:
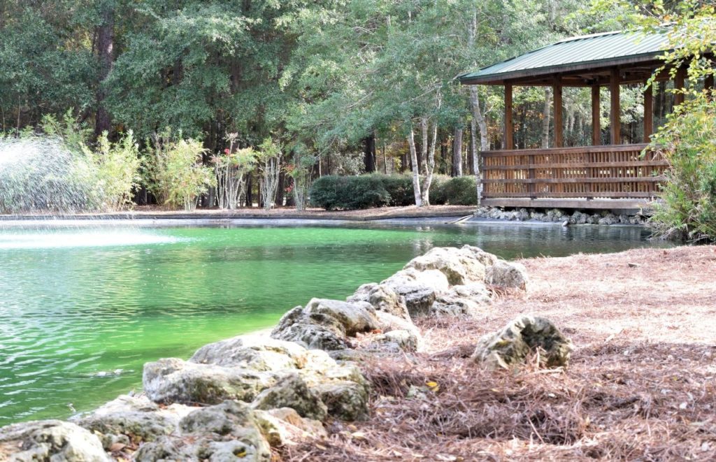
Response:
[{"label": "wide blocky pale boulder jutting into green water, below long low one", "polygon": [[144,365],[142,384],[156,403],[217,404],[227,399],[251,401],[277,378],[272,372],[165,358]]}]

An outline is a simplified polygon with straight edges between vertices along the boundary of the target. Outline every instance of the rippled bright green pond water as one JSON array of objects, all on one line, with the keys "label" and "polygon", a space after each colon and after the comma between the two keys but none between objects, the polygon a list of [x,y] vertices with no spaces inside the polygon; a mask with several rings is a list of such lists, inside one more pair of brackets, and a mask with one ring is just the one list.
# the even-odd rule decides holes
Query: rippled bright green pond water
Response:
[{"label": "rippled bright green pond water", "polygon": [[[637,227],[2,227],[0,425],[141,386],[142,364],[345,298],[436,245],[505,258],[650,245]],[[72,406],[70,406],[70,403]]]}]

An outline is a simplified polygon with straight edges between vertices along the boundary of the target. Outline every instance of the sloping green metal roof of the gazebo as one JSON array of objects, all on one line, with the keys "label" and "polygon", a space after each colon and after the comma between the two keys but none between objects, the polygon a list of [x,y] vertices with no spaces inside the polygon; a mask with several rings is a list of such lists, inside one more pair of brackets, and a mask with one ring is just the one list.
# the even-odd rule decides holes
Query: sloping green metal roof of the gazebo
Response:
[{"label": "sloping green metal roof of the gazebo", "polygon": [[537,77],[657,59],[668,48],[667,33],[605,32],[571,37],[459,77],[463,84],[500,84]]}]

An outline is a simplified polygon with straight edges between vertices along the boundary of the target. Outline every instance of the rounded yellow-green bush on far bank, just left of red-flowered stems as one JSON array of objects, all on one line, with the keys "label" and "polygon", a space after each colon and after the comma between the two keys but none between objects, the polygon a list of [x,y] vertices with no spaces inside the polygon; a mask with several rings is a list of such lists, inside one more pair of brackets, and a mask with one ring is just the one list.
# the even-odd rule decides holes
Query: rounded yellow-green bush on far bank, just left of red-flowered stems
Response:
[{"label": "rounded yellow-green bush on far bank, just left of red-flowered stems", "polygon": [[205,151],[200,140],[174,137],[169,129],[154,137],[143,167],[147,189],[160,205],[194,210],[199,196],[216,183],[211,167],[202,164]]}]

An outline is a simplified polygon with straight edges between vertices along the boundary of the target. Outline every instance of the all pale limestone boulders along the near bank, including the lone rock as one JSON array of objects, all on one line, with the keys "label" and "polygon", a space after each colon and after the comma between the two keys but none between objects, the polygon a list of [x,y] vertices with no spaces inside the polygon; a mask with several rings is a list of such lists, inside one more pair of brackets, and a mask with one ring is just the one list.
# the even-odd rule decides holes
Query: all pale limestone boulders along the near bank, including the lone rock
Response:
[{"label": "all pale limestone boulders along the near bank, including the lone rock", "polygon": [[[270,336],[205,345],[188,360],[144,367],[142,395],[122,395],[71,422],[0,428],[0,461],[271,461],[271,447],[324,438],[324,423],[369,416],[366,355],[421,348],[419,316],[484,313],[493,288],[528,290],[525,268],[477,247],[436,247],[346,301],[314,298]],[[541,348],[566,365],[571,343],[523,316],[477,342],[473,359],[508,368]]]}]

